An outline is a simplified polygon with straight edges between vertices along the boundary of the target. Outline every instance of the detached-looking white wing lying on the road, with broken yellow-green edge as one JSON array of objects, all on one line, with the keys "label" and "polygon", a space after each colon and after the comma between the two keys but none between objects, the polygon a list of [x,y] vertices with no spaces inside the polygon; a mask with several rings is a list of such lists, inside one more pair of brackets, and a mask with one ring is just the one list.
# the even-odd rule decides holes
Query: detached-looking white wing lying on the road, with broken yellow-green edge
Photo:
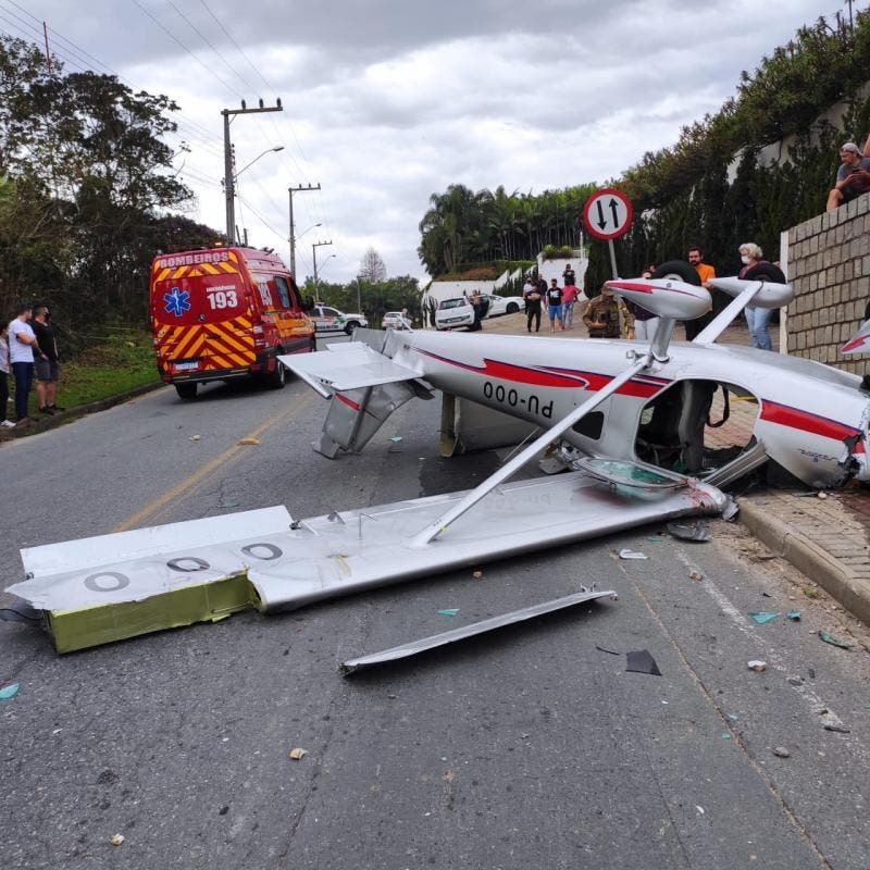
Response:
[{"label": "detached-looking white wing lying on the road, with broken yellow-green edge", "polygon": [[299,522],[283,507],[266,508],[32,547],[22,550],[27,579],[8,592],[45,612],[55,649],[67,652],[251,607],[297,608],[654,520],[719,513],[726,504],[714,487],[670,472],[638,468],[619,478],[624,484],[594,472],[505,484],[480,504],[475,522],[456,523],[425,546],[414,542],[418,530],[465,493]]}]

